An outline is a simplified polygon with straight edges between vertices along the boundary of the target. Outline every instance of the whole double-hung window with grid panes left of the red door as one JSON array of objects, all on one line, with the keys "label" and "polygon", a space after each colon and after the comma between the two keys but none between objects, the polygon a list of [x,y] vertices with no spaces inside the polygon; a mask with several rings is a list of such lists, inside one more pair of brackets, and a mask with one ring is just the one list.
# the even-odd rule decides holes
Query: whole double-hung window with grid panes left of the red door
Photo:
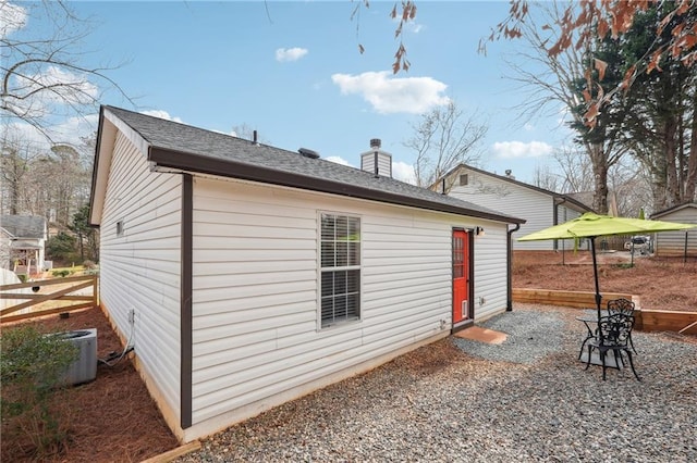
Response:
[{"label": "whole double-hung window with grid panes left of the red door", "polygon": [[360,317],[360,218],[321,214],[321,326]]}]

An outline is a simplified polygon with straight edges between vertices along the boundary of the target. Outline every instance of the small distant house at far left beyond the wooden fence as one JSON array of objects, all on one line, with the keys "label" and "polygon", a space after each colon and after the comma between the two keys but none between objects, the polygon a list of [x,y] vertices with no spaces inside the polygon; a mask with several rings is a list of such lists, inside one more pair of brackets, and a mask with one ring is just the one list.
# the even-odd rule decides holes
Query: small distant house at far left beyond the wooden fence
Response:
[{"label": "small distant house at far left beyond the wooden fence", "polygon": [[0,266],[17,274],[44,271],[48,228],[37,215],[0,216]]}]

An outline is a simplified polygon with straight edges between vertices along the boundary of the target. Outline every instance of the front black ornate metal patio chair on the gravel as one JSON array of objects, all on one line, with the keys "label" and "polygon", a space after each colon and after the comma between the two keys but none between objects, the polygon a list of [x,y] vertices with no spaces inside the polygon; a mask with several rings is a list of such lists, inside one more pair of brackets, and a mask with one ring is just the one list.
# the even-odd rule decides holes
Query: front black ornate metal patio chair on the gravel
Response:
[{"label": "front black ornate metal patio chair on the gravel", "polygon": [[632,360],[632,348],[629,346],[629,335],[634,327],[634,316],[624,313],[615,313],[600,317],[598,322],[597,336],[590,339],[588,346],[588,361],[586,370],[590,366],[590,355],[594,349],[598,350],[600,361],[602,362],[602,380],[606,380],[606,370],[608,352],[614,355],[614,362],[617,368],[624,365],[623,354],[626,353],[632,373],[637,380],[641,380],[634,370],[634,361]]}]

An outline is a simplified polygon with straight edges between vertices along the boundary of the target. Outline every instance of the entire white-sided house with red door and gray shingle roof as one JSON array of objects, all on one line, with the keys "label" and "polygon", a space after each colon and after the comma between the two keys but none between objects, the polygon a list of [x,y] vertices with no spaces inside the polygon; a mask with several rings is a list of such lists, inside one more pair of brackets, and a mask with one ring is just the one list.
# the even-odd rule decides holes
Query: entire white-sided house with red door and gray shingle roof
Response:
[{"label": "entire white-sided house with red door and gray shingle roof", "polygon": [[100,301],[182,441],[510,309],[524,221],[365,168],[102,107]]}]

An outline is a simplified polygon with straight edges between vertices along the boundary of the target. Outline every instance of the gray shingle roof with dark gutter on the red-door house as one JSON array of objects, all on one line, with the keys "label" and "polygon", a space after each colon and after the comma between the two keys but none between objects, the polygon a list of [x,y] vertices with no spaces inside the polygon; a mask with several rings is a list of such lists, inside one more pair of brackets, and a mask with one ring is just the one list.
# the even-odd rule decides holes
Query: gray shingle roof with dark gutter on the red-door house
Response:
[{"label": "gray shingle roof with dark gutter on the red-door house", "polygon": [[305,158],[297,152],[113,107],[102,107],[102,117],[103,111],[138,133],[149,143],[149,161],[162,167],[266,182],[505,223],[525,222],[393,178],[376,178],[370,172],[323,159]]}]

